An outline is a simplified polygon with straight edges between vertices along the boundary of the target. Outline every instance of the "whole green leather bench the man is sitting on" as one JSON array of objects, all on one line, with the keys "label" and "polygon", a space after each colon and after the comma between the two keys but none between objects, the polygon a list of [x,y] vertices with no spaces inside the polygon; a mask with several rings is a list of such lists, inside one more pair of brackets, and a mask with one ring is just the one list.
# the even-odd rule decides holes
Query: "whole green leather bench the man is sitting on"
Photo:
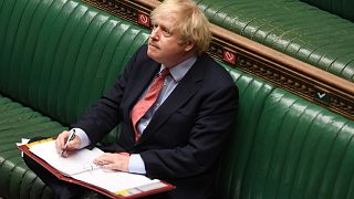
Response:
[{"label": "whole green leather bench the man is sitting on", "polygon": [[[15,143],[66,129],[148,33],[79,0],[0,0],[0,197],[53,198]],[[240,107],[219,198],[353,198],[354,122],[223,66]]]}]

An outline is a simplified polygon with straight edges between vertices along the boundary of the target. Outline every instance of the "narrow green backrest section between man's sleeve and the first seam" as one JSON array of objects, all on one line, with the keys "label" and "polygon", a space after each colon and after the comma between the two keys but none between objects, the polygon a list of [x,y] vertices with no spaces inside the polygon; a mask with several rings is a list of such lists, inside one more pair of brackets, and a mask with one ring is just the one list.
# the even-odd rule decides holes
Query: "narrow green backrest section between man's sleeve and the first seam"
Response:
[{"label": "narrow green backrest section between man's sleeve and the first seam", "polygon": [[223,65],[231,74],[239,88],[239,108],[233,130],[226,143],[221,157],[218,196],[220,198],[238,198],[243,170],[248,167],[253,138],[256,136],[261,113],[268,95],[274,90],[270,84],[238,70]]}]

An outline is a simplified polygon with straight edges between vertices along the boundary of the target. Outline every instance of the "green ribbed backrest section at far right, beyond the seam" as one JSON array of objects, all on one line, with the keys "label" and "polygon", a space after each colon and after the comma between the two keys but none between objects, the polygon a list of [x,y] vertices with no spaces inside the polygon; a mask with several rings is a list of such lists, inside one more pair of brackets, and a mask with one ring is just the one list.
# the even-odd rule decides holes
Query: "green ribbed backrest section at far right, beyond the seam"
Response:
[{"label": "green ribbed backrest section at far right, beyond the seam", "polygon": [[243,196],[354,197],[353,121],[278,88],[258,127]]}]

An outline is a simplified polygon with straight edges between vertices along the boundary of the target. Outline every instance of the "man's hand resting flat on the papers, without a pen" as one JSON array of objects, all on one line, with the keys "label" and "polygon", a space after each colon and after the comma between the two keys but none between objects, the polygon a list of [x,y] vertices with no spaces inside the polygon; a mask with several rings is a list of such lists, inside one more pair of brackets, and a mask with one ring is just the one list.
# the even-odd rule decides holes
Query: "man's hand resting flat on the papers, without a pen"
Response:
[{"label": "man's hand resting flat on the papers, without a pen", "polygon": [[126,153],[105,153],[98,158],[94,159],[93,163],[98,166],[102,166],[102,168],[104,169],[121,170],[127,172],[129,165],[129,155]]}]

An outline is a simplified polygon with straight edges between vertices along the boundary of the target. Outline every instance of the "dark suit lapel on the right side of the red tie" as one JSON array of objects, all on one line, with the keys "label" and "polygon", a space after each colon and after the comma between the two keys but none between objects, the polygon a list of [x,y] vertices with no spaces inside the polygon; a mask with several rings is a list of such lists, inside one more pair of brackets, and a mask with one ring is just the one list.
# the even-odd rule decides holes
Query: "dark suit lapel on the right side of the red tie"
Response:
[{"label": "dark suit lapel on the right side of the red tie", "polygon": [[144,134],[137,144],[145,142],[150,135],[156,133],[158,128],[183,106],[190,97],[194,96],[199,88],[199,82],[202,80],[204,69],[198,61],[187,72],[185,77],[179,82],[173,93],[166,98],[162,106],[156,111],[149,125],[145,128]]}]

